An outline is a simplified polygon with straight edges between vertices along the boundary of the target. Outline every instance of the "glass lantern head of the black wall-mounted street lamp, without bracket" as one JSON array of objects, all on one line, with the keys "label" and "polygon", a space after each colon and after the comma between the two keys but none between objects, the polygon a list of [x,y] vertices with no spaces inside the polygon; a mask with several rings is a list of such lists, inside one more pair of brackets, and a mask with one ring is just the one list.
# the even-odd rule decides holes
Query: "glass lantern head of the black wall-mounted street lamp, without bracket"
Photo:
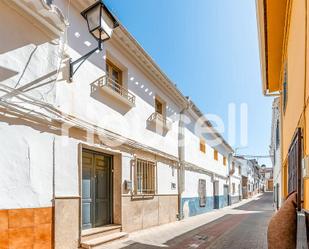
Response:
[{"label": "glass lantern head of the black wall-mounted street lamp, without bracket", "polygon": [[118,26],[101,0],[85,9],[81,15],[87,20],[89,32],[99,41],[111,38],[113,30]]}]

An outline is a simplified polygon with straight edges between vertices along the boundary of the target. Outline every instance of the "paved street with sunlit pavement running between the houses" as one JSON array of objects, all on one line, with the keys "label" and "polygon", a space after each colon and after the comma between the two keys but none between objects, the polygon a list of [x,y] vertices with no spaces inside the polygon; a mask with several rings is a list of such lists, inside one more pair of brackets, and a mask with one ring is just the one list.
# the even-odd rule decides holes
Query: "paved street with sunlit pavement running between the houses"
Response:
[{"label": "paved street with sunlit pavement running between the houses", "polygon": [[266,249],[267,224],[273,214],[272,193],[180,222],[130,234],[104,248]]}]

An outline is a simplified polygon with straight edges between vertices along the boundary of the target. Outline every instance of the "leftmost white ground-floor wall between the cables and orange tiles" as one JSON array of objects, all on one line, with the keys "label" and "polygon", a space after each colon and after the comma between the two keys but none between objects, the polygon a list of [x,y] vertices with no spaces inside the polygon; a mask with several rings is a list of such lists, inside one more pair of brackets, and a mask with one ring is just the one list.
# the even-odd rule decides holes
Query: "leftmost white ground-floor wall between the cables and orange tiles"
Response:
[{"label": "leftmost white ground-floor wall between the cables and orange tiles", "polygon": [[0,139],[0,209],[51,206],[51,135],[1,122]]}]

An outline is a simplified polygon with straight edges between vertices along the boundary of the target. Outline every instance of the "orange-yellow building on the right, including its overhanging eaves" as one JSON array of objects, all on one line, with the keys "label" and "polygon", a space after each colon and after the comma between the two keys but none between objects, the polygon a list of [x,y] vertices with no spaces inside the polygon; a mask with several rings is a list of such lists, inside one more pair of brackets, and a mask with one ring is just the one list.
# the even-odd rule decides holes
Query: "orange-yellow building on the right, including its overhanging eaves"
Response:
[{"label": "orange-yellow building on the right, including its overhanging eaves", "polygon": [[[257,1],[263,93],[279,97],[281,197],[298,192],[309,209],[307,0]],[[304,160],[304,168],[302,167]]]}]

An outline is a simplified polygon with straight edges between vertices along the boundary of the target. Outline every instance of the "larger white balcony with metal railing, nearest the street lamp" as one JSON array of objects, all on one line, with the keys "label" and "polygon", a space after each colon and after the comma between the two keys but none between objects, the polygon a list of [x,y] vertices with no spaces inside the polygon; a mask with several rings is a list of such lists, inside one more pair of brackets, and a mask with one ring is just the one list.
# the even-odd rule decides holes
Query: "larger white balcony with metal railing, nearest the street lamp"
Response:
[{"label": "larger white balcony with metal railing, nearest the street lamp", "polygon": [[91,84],[91,92],[101,90],[130,107],[135,106],[135,96],[108,76],[103,76]]}]

